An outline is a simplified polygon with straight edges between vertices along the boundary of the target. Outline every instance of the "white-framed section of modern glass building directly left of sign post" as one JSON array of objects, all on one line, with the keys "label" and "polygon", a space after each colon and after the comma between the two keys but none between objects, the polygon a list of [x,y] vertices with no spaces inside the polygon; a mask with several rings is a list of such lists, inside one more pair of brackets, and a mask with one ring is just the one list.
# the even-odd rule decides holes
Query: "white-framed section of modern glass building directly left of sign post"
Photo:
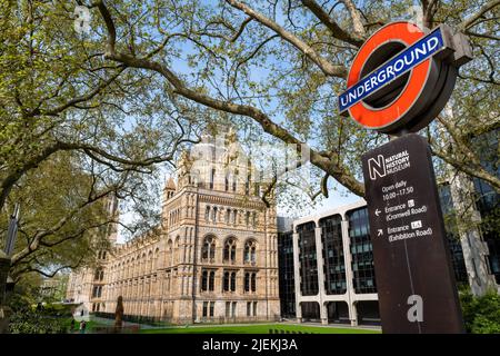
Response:
[{"label": "white-framed section of modern glass building directly left of sign post", "polygon": [[380,323],[363,200],[296,220],[292,243],[300,322]]}]

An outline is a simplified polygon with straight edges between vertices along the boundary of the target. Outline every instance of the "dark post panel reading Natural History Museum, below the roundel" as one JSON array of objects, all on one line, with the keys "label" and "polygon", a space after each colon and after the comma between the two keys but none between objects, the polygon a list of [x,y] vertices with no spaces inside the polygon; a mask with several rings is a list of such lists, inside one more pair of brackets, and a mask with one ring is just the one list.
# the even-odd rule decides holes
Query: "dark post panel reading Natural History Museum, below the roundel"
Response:
[{"label": "dark post panel reading Natural History Museum, below the roundel", "polygon": [[426,139],[406,135],[362,165],[383,333],[463,333]]}]

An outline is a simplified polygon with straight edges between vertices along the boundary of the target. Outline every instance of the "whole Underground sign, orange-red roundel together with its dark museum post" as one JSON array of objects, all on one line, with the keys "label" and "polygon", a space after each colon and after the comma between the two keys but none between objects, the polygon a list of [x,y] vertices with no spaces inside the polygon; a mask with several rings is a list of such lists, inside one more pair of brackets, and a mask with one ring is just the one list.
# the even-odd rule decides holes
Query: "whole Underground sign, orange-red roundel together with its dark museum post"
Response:
[{"label": "whole Underground sign, orange-red roundel together with its dark museum post", "polygon": [[442,110],[468,39],[442,24],[386,24],[359,49],[339,111],[391,135],[362,157],[383,333],[463,333],[429,145],[417,134]]}]

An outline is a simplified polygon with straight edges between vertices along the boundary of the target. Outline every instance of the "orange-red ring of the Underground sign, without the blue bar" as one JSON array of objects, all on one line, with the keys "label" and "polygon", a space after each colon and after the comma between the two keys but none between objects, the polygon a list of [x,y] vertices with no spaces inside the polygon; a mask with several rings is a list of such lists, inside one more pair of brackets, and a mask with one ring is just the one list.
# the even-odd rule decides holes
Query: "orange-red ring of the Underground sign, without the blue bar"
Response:
[{"label": "orange-red ring of the Underground sign, without the blue bar", "polygon": [[[393,22],[378,30],[356,55],[349,71],[348,88],[361,79],[363,65],[378,47],[393,41],[402,42],[409,47],[424,36],[426,33],[419,27],[410,22]],[[348,109],[350,116],[369,129],[384,128],[398,121],[419,99],[431,69],[431,58],[426,59],[411,69],[408,83],[390,105],[378,109],[361,100]]]}]

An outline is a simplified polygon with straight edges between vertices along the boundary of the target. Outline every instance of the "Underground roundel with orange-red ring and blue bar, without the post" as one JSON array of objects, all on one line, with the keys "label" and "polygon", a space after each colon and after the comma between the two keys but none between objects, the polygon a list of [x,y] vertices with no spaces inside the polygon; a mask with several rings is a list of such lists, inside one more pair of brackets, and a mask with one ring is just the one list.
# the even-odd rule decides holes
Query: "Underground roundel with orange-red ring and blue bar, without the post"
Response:
[{"label": "Underground roundel with orange-red ring and blue bar, without the post", "polygon": [[340,112],[361,126],[400,135],[418,131],[442,110],[457,68],[471,59],[467,38],[446,26],[432,31],[392,22],[360,48],[349,71]]}]

